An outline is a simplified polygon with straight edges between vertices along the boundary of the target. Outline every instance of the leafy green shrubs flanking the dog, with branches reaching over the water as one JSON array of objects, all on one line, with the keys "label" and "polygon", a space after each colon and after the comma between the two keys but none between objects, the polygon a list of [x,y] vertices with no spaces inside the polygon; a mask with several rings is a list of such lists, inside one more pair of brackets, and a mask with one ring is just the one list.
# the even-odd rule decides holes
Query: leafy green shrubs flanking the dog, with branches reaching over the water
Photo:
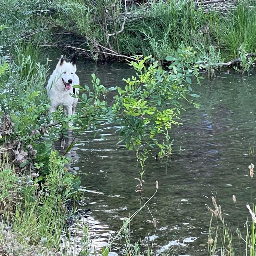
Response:
[{"label": "leafy green shrubs flanking the dog, with branches reaching over the water", "polygon": [[[138,150],[140,146],[161,147],[156,134],[169,130],[178,124],[181,101],[187,100],[199,106],[192,98],[191,77],[199,83],[197,67],[194,64],[195,52],[191,48],[180,49],[180,58],[169,68],[171,72],[158,67],[157,62],[145,66],[148,57],[132,61],[130,65],[136,71],[136,77],[125,80],[124,88],[106,89],[100,80],[92,74],[92,86],[76,86],[80,89],[78,114],[71,118],[63,114],[62,109],[52,113],[43,87],[47,77],[47,67],[37,62],[37,55],[28,55],[27,45],[17,48],[17,62],[3,63],[1,75],[1,140],[9,150],[9,161],[14,161],[23,171],[39,170],[40,177],[49,174],[49,156],[52,141],[67,136],[69,122],[72,119],[75,133],[95,129],[102,122],[115,122],[121,125],[121,141],[127,148]],[[150,57],[150,56],[149,56]],[[171,57],[168,57],[171,58]],[[113,99],[107,98],[109,92],[117,90]],[[68,145],[70,149],[70,146]],[[62,156],[63,164],[68,162]]]}]

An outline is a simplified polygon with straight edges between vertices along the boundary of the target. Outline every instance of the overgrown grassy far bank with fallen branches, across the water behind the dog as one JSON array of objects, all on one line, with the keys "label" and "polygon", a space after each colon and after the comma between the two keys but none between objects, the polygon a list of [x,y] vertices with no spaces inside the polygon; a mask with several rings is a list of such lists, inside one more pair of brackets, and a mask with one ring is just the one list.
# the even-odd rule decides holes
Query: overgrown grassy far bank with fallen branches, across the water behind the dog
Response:
[{"label": "overgrown grassy far bank with fallen branches, across the water behind the dog", "polygon": [[255,2],[214,7],[188,0],[8,0],[0,14],[1,45],[32,40],[95,60],[152,54],[162,62],[184,45],[208,70],[239,57],[230,65],[248,70],[254,59],[245,55],[256,50]]}]

